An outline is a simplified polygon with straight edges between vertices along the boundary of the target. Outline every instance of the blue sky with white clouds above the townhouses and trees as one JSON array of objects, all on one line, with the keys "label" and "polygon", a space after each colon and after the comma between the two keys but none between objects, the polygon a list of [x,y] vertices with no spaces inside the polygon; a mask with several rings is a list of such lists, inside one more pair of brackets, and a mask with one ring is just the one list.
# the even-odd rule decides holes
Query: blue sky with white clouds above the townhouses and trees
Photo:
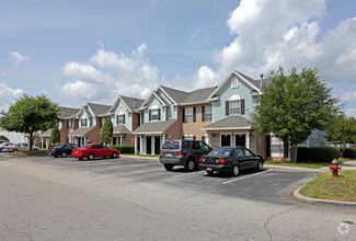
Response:
[{"label": "blue sky with white clouds above the townhouses and trees", "polygon": [[0,111],[24,93],[112,105],[279,66],[318,68],[356,116],[356,1],[0,0]]}]

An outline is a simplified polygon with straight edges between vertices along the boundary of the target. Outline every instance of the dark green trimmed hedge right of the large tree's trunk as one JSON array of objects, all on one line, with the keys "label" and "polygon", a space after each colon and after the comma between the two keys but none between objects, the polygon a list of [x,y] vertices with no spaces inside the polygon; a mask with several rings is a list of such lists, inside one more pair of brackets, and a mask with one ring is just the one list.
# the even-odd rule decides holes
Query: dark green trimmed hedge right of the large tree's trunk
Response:
[{"label": "dark green trimmed hedge right of the large tree's trunk", "polygon": [[298,162],[331,162],[338,159],[340,150],[335,147],[298,147]]}]

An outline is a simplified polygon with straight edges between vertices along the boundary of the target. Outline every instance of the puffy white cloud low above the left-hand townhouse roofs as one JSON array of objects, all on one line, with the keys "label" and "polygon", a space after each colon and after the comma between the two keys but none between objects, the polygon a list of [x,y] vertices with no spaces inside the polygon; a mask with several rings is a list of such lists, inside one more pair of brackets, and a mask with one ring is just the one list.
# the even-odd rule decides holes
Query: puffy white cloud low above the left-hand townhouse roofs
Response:
[{"label": "puffy white cloud low above the left-hand townhouse roofs", "polygon": [[77,102],[107,104],[112,104],[118,94],[147,97],[159,81],[157,67],[145,57],[147,48],[146,43],[137,46],[130,57],[100,48],[89,59],[90,64],[67,62],[62,72],[74,81],[65,83],[61,93]]}]

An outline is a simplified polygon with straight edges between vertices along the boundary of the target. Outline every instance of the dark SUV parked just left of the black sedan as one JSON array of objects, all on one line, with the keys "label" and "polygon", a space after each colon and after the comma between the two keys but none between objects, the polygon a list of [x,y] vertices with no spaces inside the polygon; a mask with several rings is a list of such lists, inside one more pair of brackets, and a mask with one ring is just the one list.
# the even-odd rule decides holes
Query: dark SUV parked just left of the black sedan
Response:
[{"label": "dark SUV parked just left of the black sedan", "polygon": [[174,165],[183,165],[187,171],[197,169],[202,156],[211,151],[211,148],[200,140],[166,140],[162,145],[160,162],[168,171]]}]

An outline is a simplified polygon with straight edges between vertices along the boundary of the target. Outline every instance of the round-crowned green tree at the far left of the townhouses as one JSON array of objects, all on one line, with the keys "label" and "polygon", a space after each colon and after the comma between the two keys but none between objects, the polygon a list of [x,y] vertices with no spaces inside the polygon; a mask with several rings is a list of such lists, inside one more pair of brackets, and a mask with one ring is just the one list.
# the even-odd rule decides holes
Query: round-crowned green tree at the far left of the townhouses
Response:
[{"label": "round-crowned green tree at the far left of the townhouses", "polygon": [[46,130],[58,124],[59,108],[46,95],[30,96],[24,94],[11,104],[8,112],[1,112],[0,126],[9,131],[30,135],[30,150],[33,146],[33,134]]}]

